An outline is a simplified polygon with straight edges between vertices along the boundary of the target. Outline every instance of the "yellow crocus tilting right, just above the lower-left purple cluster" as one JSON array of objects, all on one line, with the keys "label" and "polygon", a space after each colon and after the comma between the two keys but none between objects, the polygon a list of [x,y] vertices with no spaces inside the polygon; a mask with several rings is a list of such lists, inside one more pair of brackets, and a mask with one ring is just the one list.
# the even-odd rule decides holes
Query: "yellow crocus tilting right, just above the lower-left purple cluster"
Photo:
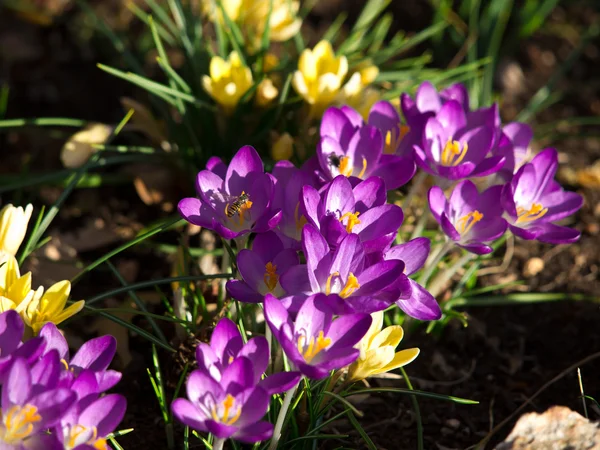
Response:
[{"label": "yellow crocus tilting right, just above the lower-left purple cluster", "polygon": [[67,280],[55,283],[46,292],[43,292],[41,288],[38,289],[22,315],[23,321],[37,335],[46,323],[52,322],[58,325],[74,316],[81,311],[85,302],[79,300],[66,307],[70,293],[71,283]]}]

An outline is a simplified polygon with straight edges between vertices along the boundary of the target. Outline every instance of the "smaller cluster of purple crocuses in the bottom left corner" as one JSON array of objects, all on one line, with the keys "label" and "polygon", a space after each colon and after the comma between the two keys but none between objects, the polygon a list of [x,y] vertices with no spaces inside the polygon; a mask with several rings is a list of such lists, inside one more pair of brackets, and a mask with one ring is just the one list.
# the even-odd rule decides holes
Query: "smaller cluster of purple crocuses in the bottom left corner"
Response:
[{"label": "smaller cluster of purple crocuses in the bottom left corner", "polygon": [[92,339],[70,358],[53,323],[26,342],[23,332],[18,313],[0,314],[0,448],[108,449],[126,408],[123,396],[104,394],[121,379],[107,370],[116,340]]}]

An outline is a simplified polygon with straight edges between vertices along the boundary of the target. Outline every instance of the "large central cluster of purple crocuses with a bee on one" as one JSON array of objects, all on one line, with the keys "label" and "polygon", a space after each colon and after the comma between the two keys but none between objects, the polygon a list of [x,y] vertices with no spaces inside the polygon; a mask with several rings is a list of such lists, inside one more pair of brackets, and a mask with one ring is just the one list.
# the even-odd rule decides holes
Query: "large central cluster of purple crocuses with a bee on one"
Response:
[{"label": "large central cluster of purple crocuses with a bee on one", "polygon": [[179,211],[238,242],[240,279],[227,291],[263,304],[292,371],[262,378],[268,343],[255,337],[244,345],[223,319],[210,346],[198,347],[189,400],[173,404],[183,423],[221,439],[268,439],[273,427],[261,420],[269,396],[300,376],[320,379],[356,360],[370,313],[396,304],[420,320],[440,318],[435,298],[409,278],[425,265],[430,241],[395,244],[404,216],[387,202],[387,192],[417,168],[433,180],[429,207],[446,240],[469,252],[491,252],[489,244],[509,227],[542,242],[579,237],[555,222],[582,199],[554,181],[554,149],[526,163],[527,125],[502,126],[495,105],[472,111],[462,85],[438,92],[424,83],[414,99],[401,97],[401,109],[404,122],[392,104],[378,102],[365,123],[349,107],[329,108],[316,155],[301,168],[282,161],[265,173],[246,146],[228,166],[213,158],[198,174],[198,197],[183,199]]}]

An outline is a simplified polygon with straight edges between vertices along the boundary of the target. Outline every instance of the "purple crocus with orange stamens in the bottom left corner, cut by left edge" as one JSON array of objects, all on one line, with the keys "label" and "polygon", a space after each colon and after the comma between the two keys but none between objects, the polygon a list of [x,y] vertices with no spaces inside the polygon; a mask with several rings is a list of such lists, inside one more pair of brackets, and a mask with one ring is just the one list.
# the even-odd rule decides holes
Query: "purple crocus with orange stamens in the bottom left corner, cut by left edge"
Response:
[{"label": "purple crocus with orange stamens in the bottom left corner, cut by left edge", "polygon": [[36,385],[25,358],[15,359],[2,386],[0,447],[62,449],[56,437],[45,435],[44,430],[58,423],[75,399],[69,389]]}]

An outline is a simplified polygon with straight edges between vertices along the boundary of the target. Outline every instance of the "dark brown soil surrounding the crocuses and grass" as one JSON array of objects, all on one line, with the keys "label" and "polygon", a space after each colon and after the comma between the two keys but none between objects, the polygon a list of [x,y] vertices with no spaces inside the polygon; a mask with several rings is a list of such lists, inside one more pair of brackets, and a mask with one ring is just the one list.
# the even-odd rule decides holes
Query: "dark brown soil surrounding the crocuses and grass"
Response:
[{"label": "dark brown soil surrounding the crocuses and grass", "polygon": [[[311,18],[319,29],[320,21],[335,16],[335,1],[323,6]],[[339,2],[337,2],[339,4]],[[400,2],[399,2],[400,3]],[[398,26],[415,31],[428,21],[427,8],[420,2],[406,2],[397,12]],[[71,13],[69,13],[71,14]],[[118,98],[133,95],[125,83],[102,73],[95,67],[107,55],[106,48],[96,48],[73,39],[67,14],[52,27],[39,27],[0,14],[0,84],[11,86],[7,118],[31,116],[66,116],[115,122],[122,116]],[[497,85],[502,93],[502,114],[506,121],[515,117],[525,102],[564,63],[581,38],[581,31],[600,15],[591,6],[558,8],[533,37],[523,42],[514,54],[499,63]],[[563,98],[537,119],[552,123],[577,116],[600,115],[600,42],[590,43],[568,76],[558,84]],[[540,143],[556,147],[566,169],[561,181],[585,198],[584,208],[572,221],[582,231],[581,240],[570,246],[550,246],[518,241],[514,254],[496,273],[480,279],[491,285],[525,279],[525,292],[566,292],[600,294],[600,168],[590,168],[600,161],[600,134],[593,128],[551,127],[555,132]],[[58,153],[68,130],[27,130],[0,134],[2,176],[59,169]],[[596,130],[597,133],[597,130]],[[565,138],[563,134],[570,134]],[[596,166],[598,167],[598,166]],[[582,172],[587,169],[588,172]],[[78,272],[75,261],[84,264],[130,239],[144,225],[167,213],[159,207],[144,205],[131,183],[131,171],[115,171],[114,185],[101,189],[76,191],[61,210],[50,229],[54,236],[50,251],[38,252],[30,261],[39,283],[71,278]],[[180,187],[171,194],[181,196]],[[12,196],[2,194],[2,202],[33,201],[51,204],[60,193],[57,186],[26,189]],[[174,235],[160,237],[175,242]],[[58,243],[58,244],[55,244]],[[58,252],[58,257],[56,257]],[[501,256],[490,267],[501,266]],[[58,260],[58,262],[57,262]],[[128,282],[169,276],[170,261],[155,250],[139,246],[114,258],[113,263]],[[37,277],[37,278],[36,278]],[[77,284],[73,298],[87,298],[111,287],[118,281],[101,267]],[[158,296],[146,297],[157,305]],[[118,306],[114,300],[109,306]],[[565,301],[537,305],[474,307],[466,311],[469,326],[452,322],[437,336],[424,329],[409,334],[403,346],[419,347],[421,354],[408,366],[415,387],[442,394],[477,400],[478,405],[458,405],[420,399],[426,449],[466,449],[486,437],[501,423],[559,374],[564,376],[548,385],[523,412],[544,411],[552,405],[566,405],[581,412],[576,370],[569,367],[600,351],[598,303]],[[143,321],[134,323],[146,326]],[[74,324],[73,344],[101,332],[119,333],[116,328],[84,318]],[[127,450],[165,448],[164,428],[156,399],[151,391],[146,367],[151,364],[148,345],[139,336],[124,336],[121,345],[127,361],[119,391],[128,398],[128,412],[123,428],[135,432],[120,438]],[[163,359],[169,366],[167,376],[176,370],[177,361]],[[600,398],[600,358],[581,366],[586,393]],[[373,384],[390,381],[374,380]],[[403,386],[402,381],[395,381]],[[172,385],[172,383],[171,383]],[[588,404],[590,418],[600,418],[600,411]],[[417,433],[415,415],[408,396],[377,395],[357,404],[364,412],[362,424],[380,449],[414,449]],[[519,415],[499,429],[488,448],[505,437]],[[364,444],[347,423],[340,422],[327,432],[350,433],[339,442],[325,443],[323,448],[364,448]],[[197,442],[197,441],[196,441]],[[159,444],[160,443],[160,444]],[[198,446],[197,448],[200,448]]]}]

